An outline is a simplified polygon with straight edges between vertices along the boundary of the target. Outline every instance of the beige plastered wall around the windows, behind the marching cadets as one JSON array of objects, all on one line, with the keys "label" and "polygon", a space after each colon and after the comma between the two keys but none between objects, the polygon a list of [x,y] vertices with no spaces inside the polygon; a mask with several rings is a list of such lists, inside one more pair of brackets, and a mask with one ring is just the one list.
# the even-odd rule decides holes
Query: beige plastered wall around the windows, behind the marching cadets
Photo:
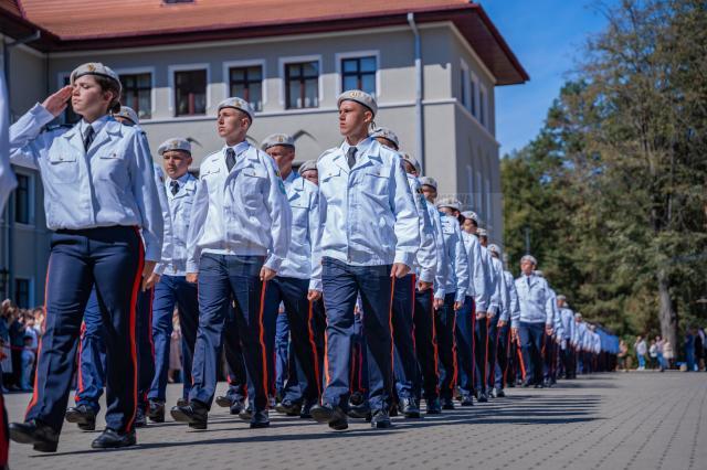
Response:
[{"label": "beige plastered wall around the windows, behind the marching cadets", "polygon": [[[494,137],[494,79],[451,23],[425,24],[420,31],[426,173],[440,182],[441,194],[458,195],[467,207],[477,211],[487,221],[492,239],[500,242],[503,223],[498,143]],[[377,86],[380,110],[376,122],[393,129],[400,137],[401,148],[419,157],[415,148],[413,38],[410,29],[395,26],[272,40],[56,53],[48,58],[15,54],[11,77],[17,84],[12,94],[13,109],[15,113],[28,109],[46,95],[48,87],[55,89],[64,75],[85,62],[99,61],[118,73],[149,72],[154,79],[152,116],[144,120],[141,126],[150,147],[155,151],[160,142],[170,137],[191,137],[199,142],[194,143],[194,164],[198,165],[203,157],[222,147],[215,133],[214,116],[218,104],[228,94],[229,64],[262,63],[265,72],[263,111],[256,115],[249,138],[257,143],[273,132],[300,133],[296,143],[297,161],[302,162],[316,159],[341,141],[336,111],[336,97],[341,92],[337,67],[340,55],[373,53],[378,56],[379,68]],[[318,108],[284,109],[282,64],[293,57],[320,60]],[[486,126],[482,126],[460,103],[462,61],[488,90]],[[209,71],[207,115],[176,118],[170,76],[175,67],[190,64],[205,66]],[[39,78],[28,79],[30,76]],[[477,173],[482,184],[477,183]],[[490,215],[487,214],[487,201],[490,203]],[[43,216],[41,222],[43,227]],[[35,245],[38,249],[45,249],[40,242]],[[22,246],[21,249],[25,253],[31,248]]]}]

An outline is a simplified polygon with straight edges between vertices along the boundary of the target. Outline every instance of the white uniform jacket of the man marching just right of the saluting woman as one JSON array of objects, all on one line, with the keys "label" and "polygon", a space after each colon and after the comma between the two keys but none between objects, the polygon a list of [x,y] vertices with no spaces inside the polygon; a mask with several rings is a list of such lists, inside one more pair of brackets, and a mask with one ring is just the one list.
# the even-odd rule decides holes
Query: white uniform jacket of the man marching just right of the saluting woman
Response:
[{"label": "white uniform jacket of the man marching just right of the saluting woman", "polygon": [[233,147],[235,164],[229,171],[228,147],[201,163],[189,223],[187,273],[199,271],[202,253],[265,256],[275,271],[287,256],[292,211],[275,161],[247,142]]}]

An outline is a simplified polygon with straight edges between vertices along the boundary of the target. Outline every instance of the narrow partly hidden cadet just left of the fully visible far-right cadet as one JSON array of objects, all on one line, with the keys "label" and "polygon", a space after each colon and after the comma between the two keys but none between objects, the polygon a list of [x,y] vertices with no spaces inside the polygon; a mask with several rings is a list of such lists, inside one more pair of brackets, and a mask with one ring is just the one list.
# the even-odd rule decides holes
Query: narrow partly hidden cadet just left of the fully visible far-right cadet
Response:
[{"label": "narrow partly hidden cadet just left of the fully visible far-right cadet", "polygon": [[[516,282],[513,274],[508,270],[503,271],[504,285],[506,290],[502,291],[502,305],[505,311],[498,320],[498,348],[496,361],[496,383],[494,384],[494,396],[497,398],[506,396],[504,388],[507,385],[508,368],[511,357],[516,355],[516,350],[511,346],[510,341],[510,318],[520,313],[518,303],[518,292],[516,291]],[[515,371],[510,376],[510,382],[515,386]]]}]

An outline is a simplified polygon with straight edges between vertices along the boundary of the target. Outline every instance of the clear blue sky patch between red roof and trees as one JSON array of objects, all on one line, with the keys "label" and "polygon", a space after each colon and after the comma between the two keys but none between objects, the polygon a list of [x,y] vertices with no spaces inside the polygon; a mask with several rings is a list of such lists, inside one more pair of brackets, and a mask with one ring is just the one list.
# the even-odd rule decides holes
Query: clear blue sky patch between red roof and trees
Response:
[{"label": "clear blue sky patch between red roof and trees", "polygon": [[530,75],[525,85],[496,88],[496,138],[504,156],[538,133],[567,73],[581,60],[588,35],[606,21],[592,6],[599,2],[590,0],[478,2]]}]

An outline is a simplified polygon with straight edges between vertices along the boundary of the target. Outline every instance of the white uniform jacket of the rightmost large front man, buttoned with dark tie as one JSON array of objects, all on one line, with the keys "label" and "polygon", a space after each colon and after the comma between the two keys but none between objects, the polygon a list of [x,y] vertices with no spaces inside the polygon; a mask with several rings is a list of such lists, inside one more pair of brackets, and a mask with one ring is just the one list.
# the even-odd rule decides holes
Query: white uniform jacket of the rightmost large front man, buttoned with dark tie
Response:
[{"label": "white uniform jacket of the rightmost large front man, buttoned with dark tie", "polygon": [[367,138],[356,146],[356,164],[349,169],[349,147],[345,141],[317,160],[323,226],[318,259],[412,268],[420,222],[402,159]]}]

